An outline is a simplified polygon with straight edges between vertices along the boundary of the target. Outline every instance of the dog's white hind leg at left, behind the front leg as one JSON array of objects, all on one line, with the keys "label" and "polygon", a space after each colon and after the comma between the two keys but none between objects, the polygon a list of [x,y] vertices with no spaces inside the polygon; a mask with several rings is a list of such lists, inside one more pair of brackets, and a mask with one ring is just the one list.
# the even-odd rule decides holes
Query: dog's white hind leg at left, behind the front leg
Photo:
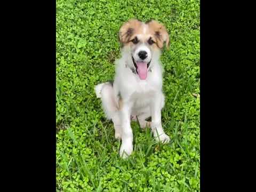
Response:
[{"label": "dog's white hind leg at left, behind the front leg", "polygon": [[95,92],[97,97],[101,98],[102,107],[107,119],[111,119],[114,123],[115,138],[121,139],[121,121],[112,84],[109,82],[98,84],[95,86]]}]

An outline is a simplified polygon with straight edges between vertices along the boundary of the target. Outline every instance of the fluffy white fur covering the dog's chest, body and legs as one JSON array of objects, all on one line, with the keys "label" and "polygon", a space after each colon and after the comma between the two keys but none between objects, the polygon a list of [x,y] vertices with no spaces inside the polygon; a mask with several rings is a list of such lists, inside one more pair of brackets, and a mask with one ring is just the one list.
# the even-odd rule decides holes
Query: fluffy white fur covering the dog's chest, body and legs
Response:
[{"label": "fluffy white fur covering the dog's chest, body and legs", "polygon": [[[159,62],[161,51],[147,50],[149,53],[147,59],[148,61],[151,59],[151,62],[145,80],[141,80],[130,69],[134,67],[131,55],[134,55],[134,58],[137,57],[138,50],[143,49],[143,46],[145,47],[141,45],[136,50],[123,47],[122,57],[115,62],[116,73],[113,86],[109,82],[95,86],[95,92],[97,97],[101,98],[106,117],[114,123],[115,137],[122,139],[119,154],[123,158],[133,151],[131,115],[138,116],[141,127],[146,126],[145,119],[151,116],[150,127],[156,140],[170,141],[161,123],[161,110],[164,107],[163,68]],[[122,106],[118,106],[121,99],[119,95],[122,95]]]}]

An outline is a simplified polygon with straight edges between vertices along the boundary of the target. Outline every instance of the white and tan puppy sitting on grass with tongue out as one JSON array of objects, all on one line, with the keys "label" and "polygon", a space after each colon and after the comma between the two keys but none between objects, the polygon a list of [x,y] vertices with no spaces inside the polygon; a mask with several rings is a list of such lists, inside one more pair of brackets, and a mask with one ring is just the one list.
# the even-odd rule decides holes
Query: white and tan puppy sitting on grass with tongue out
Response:
[{"label": "white and tan puppy sitting on grass with tongue out", "polygon": [[[164,44],[169,47],[169,34],[156,20],[130,19],[119,29],[119,41],[122,56],[115,61],[114,82],[98,84],[94,89],[107,119],[114,123],[115,138],[122,141],[119,154],[126,158],[133,151],[131,120],[134,117],[140,127],[150,126],[157,141],[170,141],[161,122],[165,97],[159,60]],[[148,117],[150,123],[146,121]]]}]

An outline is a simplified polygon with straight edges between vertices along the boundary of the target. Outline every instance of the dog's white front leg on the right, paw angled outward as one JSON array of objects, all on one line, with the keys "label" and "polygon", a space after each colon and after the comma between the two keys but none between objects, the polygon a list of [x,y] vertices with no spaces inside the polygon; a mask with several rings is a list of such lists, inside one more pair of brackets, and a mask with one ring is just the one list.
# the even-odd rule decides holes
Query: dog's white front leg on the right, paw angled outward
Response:
[{"label": "dog's white front leg on the right, paw angled outward", "polygon": [[162,94],[156,94],[150,102],[150,113],[151,113],[151,130],[153,131],[154,137],[157,141],[169,142],[170,137],[164,133],[162,122],[161,122],[161,110],[163,103]]}]

